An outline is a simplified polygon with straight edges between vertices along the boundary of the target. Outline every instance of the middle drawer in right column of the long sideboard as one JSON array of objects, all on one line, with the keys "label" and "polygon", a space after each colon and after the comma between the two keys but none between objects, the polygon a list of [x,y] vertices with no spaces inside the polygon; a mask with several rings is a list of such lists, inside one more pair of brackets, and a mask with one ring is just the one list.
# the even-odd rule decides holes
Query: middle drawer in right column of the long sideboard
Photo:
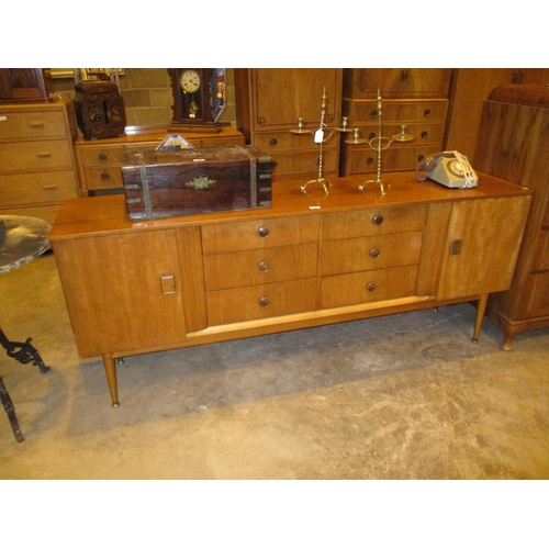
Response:
[{"label": "middle drawer in right column of the long sideboard", "polygon": [[385,269],[419,262],[423,231],[327,240],[322,245],[322,274]]}]

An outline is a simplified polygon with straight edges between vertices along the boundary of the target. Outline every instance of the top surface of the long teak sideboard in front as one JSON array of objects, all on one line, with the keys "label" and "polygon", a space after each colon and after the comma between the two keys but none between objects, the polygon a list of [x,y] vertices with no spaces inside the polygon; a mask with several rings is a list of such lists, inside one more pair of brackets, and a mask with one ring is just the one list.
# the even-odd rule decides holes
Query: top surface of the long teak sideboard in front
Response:
[{"label": "top surface of the long teak sideboard in front", "polygon": [[[436,202],[467,200],[472,198],[498,198],[508,195],[531,195],[533,191],[503,179],[478,172],[479,186],[473,189],[448,189],[432,181],[417,182],[413,171],[383,175],[389,183],[386,194],[381,195],[379,187],[369,183],[359,190],[365,176],[350,176],[332,180],[329,194],[321,184],[312,183],[307,193],[301,191],[302,181],[277,182],[272,187],[272,205],[261,210],[163,217],[131,221],[126,213],[123,194],[79,198],[63,203],[52,233],[52,240],[75,236],[99,236],[112,234],[178,228],[182,226],[228,223],[237,221],[268,220],[274,216],[314,215],[318,213],[371,210],[381,208],[410,206]],[[471,220],[474,223],[474,220]]]}]

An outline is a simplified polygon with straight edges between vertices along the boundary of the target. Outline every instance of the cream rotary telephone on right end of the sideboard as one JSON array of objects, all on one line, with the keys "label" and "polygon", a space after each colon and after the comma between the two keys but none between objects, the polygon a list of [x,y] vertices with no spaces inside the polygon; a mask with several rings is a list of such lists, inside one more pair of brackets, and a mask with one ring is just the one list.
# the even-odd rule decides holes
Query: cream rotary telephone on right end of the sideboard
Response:
[{"label": "cream rotary telephone on right end of the sideboard", "polygon": [[[421,171],[425,175],[421,175]],[[415,176],[418,181],[429,178],[445,187],[456,189],[471,189],[479,184],[469,160],[457,150],[446,150],[425,157],[417,166]]]}]

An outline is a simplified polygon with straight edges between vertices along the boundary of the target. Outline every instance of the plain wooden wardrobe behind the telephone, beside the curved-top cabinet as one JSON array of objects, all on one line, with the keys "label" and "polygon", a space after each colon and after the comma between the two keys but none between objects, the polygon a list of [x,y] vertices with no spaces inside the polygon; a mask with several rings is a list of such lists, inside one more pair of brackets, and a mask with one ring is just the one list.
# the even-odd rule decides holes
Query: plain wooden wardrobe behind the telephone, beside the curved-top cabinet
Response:
[{"label": "plain wooden wardrobe behind the telephone, beside the curved-top cabinet", "polygon": [[547,68],[460,68],[453,69],[450,86],[446,150],[459,150],[474,166],[474,152],[482,107],[490,92],[505,85],[549,83]]}]

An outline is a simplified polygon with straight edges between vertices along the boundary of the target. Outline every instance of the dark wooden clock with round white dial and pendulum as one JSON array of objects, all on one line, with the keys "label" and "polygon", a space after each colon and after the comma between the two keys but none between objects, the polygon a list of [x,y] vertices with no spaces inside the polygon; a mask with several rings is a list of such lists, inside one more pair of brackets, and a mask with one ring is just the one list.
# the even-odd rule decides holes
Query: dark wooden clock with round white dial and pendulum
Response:
[{"label": "dark wooden clock with round white dial and pendulum", "polygon": [[225,109],[225,69],[170,68],[173,119],[171,130],[221,132]]}]

